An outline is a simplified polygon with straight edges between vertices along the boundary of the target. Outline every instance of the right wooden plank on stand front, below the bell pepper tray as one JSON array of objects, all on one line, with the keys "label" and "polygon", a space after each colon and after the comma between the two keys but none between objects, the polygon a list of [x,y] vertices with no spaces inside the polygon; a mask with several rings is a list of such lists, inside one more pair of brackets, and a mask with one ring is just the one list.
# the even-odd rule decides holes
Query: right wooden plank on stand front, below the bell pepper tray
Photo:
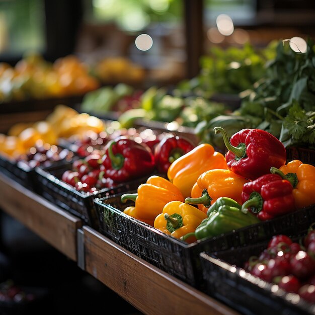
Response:
[{"label": "right wooden plank on stand front, below the bell pepper tray", "polygon": [[237,315],[84,226],[86,271],[145,314]]}]

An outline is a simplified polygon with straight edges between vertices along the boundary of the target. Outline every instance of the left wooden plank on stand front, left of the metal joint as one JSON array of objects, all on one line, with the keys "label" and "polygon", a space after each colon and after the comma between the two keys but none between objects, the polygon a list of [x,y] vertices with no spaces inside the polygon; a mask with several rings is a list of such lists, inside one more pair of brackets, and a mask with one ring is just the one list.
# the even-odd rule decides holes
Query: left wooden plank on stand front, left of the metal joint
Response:
[{"label": "left wooden plank on stand front, left of the metal joint", "polygon": [[0,208],[70,259],[77,260],[76,232],[82,221],[0,174]]}]

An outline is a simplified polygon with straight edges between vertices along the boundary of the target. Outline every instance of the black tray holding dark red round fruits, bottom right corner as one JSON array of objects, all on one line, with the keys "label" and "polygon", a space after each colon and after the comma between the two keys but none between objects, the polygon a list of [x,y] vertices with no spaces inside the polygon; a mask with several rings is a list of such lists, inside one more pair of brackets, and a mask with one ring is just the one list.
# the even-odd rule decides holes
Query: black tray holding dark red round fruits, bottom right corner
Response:
[{"label": "black tray holding dark red round fruits, bottom right corner", "polygon": [[[299,233],[299,236],[305,235]],[[286,234],[298,242],[299,237]],[[265,282],[243,269],[251,256],[267,248],[268,241],[216,253],[200,253],[205,292],[246,315],[314,315],[315,305]]]}]

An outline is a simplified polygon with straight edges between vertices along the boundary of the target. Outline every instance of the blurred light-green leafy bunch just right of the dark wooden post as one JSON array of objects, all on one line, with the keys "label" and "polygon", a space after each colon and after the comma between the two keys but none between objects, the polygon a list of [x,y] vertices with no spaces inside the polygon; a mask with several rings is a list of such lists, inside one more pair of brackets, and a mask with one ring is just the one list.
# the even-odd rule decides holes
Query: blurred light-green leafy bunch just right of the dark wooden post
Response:
[{"label": "blurred light-green leafy bunch just right of the dark wooden post", "polygon": [[179,83],[183,94],[210,97],[213,94],[239,94],[252,88],[265,75],[265,63],[275,55],[274,43],[265,49],[255,49],[247,43],[243,47],[223,49],[213,46],[208,55],[200,58],[201,71],[192,80]]}]

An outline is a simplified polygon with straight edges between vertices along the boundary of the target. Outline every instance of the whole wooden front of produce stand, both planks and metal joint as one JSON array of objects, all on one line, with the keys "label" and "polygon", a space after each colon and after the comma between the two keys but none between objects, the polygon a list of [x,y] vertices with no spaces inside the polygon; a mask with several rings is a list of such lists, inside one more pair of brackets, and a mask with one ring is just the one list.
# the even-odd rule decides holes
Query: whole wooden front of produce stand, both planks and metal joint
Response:
[{"label": "whole wooden front of produce stand, both planks and metal joint", "polygon": [[0,173],[0,208],[145,314],[239,315]]}]

